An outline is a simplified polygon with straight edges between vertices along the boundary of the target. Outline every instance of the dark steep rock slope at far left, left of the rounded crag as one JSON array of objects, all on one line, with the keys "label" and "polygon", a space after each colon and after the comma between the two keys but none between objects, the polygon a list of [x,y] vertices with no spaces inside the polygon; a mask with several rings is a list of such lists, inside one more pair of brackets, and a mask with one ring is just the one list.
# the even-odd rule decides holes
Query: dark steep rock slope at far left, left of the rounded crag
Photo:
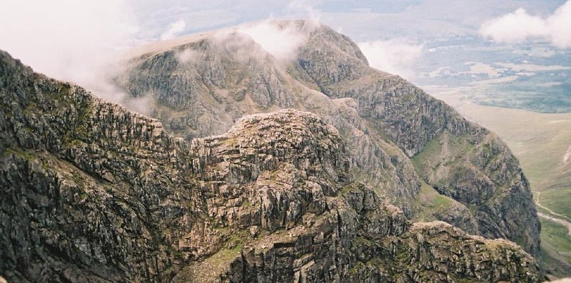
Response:
[{"label": "dark steep rock slope at far left, left of the rounded crag", "polygon": [[180,203],[201,201],[182,141],[4,52],[0,98],[2,274],[14,282],[170,278],[176,257],[163,233],[188,211]]}]

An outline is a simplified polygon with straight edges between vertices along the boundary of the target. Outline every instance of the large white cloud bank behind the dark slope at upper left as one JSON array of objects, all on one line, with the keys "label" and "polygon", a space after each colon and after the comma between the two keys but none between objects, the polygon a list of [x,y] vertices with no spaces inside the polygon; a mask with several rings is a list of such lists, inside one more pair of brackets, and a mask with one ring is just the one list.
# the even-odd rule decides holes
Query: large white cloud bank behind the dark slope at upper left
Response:
[{"label": "large white cloud bank behind the dark slope at upper left", "polygon": [[126,98],[110,78],[138,32],[128,0],[7,0],[0,27],[0,48],[35,71],[107,101]]}]

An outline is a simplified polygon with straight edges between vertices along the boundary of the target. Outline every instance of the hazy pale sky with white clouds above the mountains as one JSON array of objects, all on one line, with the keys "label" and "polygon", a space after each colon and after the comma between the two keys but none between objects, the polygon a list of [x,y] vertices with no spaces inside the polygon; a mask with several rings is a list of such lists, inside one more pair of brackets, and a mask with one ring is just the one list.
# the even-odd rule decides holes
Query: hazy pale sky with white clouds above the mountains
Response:
[{"label": "hazy pale sky with white clouds above the mountains", "polygon": [[[111,101],[123,95],[104,81],[128,48],[265,19],[323,22],[353,38],[374,68],[420,84],[495,78],[506,68],[495,63],[512,53],[555,64],[545,58],[571,48],[571,0],[3,0],[2,8],[0,49]],[[468,51],[439,64],[454,46]],[[490,61],[496,51],[502,62]]]}]

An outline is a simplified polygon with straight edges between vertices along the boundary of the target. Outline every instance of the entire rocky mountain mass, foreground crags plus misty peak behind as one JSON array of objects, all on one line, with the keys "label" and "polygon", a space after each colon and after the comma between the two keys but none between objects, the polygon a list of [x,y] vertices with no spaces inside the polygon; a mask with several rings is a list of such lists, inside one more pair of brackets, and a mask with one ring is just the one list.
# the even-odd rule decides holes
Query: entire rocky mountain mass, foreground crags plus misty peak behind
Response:
[{"label": "entire rocky mountain mass, foreground crags plus misty peak behind", "polygon": [[[345,36],[276,25],[292,24],[308,32],[294,63],[238,33],[132,59],[116,82],[158,120],[0,51],[0,274],[539,282],[537,214],[505,145]],[[181,63],[189,46],[201,59]]]}]

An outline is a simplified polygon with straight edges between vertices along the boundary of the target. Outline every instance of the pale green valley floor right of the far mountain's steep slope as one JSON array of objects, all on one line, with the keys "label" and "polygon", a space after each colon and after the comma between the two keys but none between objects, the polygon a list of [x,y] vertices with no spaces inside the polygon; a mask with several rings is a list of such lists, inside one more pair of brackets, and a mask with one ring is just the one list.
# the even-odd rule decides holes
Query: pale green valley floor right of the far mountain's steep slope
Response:
[{"label": "pale green valley floor right of the far mountain's steep slope", "polygon": [[571,202],[571,164],[565,163],[571,137],[571,114],[534,113],[465,102],[461,107],[455,103],[455,108],[500,135],[520,160],[530,180],[542,223],[545,272],[552,277],[570,276],[571,235],[567,227],[571,224],[560,224],[571,221],[571,207],[567,205]]}]

